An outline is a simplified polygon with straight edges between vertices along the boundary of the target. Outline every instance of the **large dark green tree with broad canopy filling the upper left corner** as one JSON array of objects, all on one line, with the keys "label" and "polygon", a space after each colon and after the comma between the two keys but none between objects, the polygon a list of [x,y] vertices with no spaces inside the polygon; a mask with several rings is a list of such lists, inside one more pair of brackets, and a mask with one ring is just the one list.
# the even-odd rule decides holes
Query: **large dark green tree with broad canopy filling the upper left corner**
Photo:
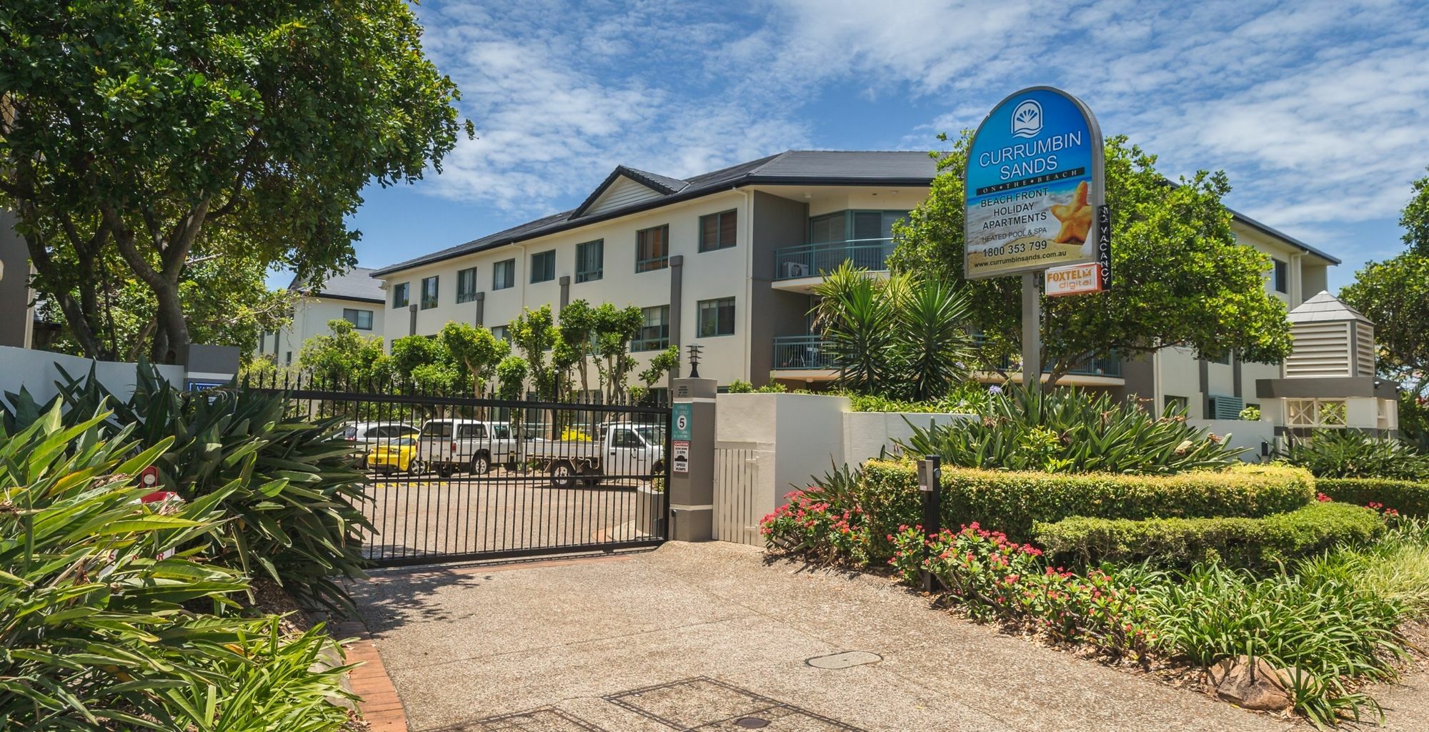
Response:
[{"label": "large dark green tree with broad canopy filling the upper left corner", "polygon": [[183,360],[197,252],[312,285],[353,264],[359,192],[440,169],[460,129],[420,36],[402,0],[7,1],[0,206],[79,349],[133,279],[150,357]]}]

